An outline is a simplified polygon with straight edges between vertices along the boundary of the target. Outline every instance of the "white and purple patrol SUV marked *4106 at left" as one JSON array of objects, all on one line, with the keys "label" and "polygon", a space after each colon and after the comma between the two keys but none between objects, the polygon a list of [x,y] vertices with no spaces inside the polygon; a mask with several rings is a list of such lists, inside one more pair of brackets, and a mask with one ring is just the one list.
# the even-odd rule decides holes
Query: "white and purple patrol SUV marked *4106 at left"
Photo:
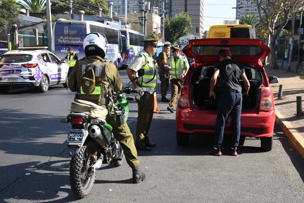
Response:
[{"label": "white and purple patrol SUV marked *4106 at left", "polygon": [[46,92],[51,85],[67,86],[68,66],[50,51],[8,51],[0,58],[0,93],[11,87],[35,87]]}]

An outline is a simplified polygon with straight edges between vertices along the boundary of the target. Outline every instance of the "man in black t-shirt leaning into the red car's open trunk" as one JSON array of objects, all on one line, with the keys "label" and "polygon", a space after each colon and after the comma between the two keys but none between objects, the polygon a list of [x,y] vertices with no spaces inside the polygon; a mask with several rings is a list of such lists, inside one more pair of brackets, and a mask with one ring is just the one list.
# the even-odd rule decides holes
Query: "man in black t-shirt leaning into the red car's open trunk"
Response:
[{"label": "man in black t-shirt leaning into the red car's open trunk", "polygon": [[[244,93],[248,96],[250,83],[245,75],[245,70],[241,64],[231,59],[232,54],[229,49],[221,48],[219,50],[219,62],[214,66],[214,73],[210,82],[210,97],[219,96],[219,105],[216,117],[215,140],[213,149],[207,151],[207,154],[216,156],[222,155],[220,146],[223,141],[223,133],[225,121],[228,114],[231,115],[232,141],[229,152],[232,156],[237,156],[237,146],[240,139],[240,118],[242,111],[242,87],[239,79],[244,81]],[[220,80],[223,86],[220,87],[220,95],[215,95],[214,86],[217,76],[220,75]]]}]

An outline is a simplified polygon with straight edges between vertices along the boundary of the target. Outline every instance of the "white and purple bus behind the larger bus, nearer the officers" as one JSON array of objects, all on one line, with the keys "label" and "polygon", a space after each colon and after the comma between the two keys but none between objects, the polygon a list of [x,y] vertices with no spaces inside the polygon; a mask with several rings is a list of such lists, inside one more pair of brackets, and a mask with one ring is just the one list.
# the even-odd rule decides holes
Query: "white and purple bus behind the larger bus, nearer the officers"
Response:
[{"label": "white and purple bus behind the larger bus, nearer the officers", "polygon": [[135,58],[136,54],[143,49],[143,40],[146,37],[137,31],[130,29],[119,29],[121,34],[126,37],[123,40],[123,66],[128,66]]}]

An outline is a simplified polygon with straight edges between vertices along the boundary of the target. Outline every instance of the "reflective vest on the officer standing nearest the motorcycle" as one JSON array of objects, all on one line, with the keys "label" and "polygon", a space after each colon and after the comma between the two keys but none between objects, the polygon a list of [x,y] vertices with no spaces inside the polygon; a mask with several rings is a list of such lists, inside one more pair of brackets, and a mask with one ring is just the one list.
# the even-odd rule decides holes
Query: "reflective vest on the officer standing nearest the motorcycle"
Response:
[{"label": "reflective vest on the officer standing nearest the motorcycle", "polygon": [[140,68],[145,70],[145,75],[143,75],[142,80],[138,82],[144,87],[155,88],[157,83],[157,77],[153,59],[146,52],[140,52],[138,54],[140,54],[141,56],[143,55],[146,58],[146,64]]}]

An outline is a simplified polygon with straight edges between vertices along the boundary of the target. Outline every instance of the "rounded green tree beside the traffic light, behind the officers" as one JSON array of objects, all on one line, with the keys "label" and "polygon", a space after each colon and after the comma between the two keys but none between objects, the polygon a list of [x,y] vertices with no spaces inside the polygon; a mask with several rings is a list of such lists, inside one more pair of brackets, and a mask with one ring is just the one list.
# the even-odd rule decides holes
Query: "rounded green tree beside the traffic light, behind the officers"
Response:
[{"label": "rounded green tree beside the traffic light, behind the officers", "polygon": [[187,36],[193,29],[191,18],[188,13],[179,13],[174,18],[166,17],[164,22],[165,41],[177,44],[181,37]]}]

